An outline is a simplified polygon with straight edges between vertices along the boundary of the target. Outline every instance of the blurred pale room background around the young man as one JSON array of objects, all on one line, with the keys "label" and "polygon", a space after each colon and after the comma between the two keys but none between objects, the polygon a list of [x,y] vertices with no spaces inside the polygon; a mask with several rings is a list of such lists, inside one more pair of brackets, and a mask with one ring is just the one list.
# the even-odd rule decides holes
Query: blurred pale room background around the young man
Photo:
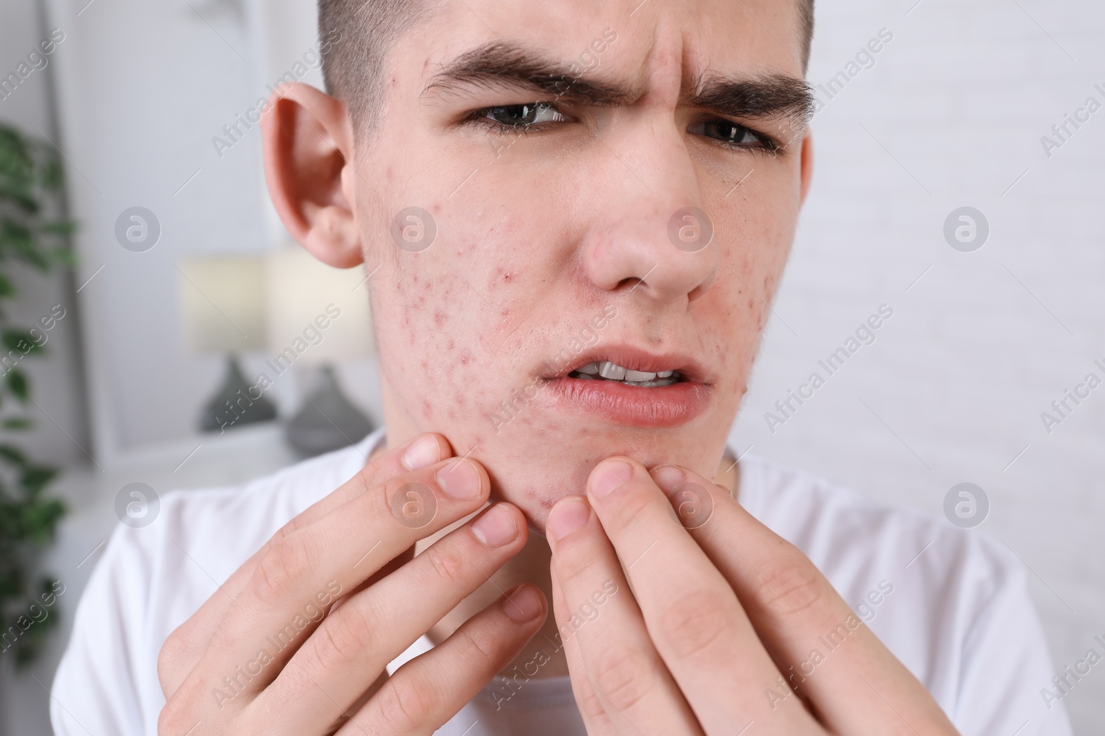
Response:
[{"label": "blurred pale room background around the young man", "polygon": [[[1008,545],[1061,670],[1105,636],[1105,6],[839,0],[817,23],[813,188],[733,440]],[[309,0],[0,0],[2,156],[64,178],[33,215],[0,189],[25,225],[0,230],[3,513],[54,531],[24,557],[0,525],[0,574],[64,586],[36,646],[0,652],[0,733],[50,733],[134,483],[239,482],[382,420],[366,275],[302,257],[264,185],[256,107],[287,74],[322,86],[317,49]],[[1105,733],[1105,670],[1063,704]]]}]

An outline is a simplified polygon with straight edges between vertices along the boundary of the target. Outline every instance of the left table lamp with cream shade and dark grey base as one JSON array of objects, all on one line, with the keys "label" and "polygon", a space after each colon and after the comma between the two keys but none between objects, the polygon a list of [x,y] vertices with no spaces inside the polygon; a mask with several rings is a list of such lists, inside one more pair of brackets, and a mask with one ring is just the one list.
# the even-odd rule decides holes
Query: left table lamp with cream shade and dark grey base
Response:
[{"label": "left table lamp with cream shade and dark grey base", "polygon": [[276,407],[242,374],[239,355],[266,345],[265,262],[261,256],[212,256],[177,264],[185,340],[194,353],[227,356],[225,380],[200,412],[200,429],[276,418]]}]

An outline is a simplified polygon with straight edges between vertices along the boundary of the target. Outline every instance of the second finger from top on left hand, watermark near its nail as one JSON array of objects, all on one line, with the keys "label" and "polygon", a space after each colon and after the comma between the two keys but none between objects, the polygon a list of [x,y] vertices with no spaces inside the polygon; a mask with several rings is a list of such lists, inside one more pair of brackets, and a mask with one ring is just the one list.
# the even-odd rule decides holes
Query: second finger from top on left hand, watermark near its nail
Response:
[{"label": "second finger from top on left hand, watermark near its nail", "polygon": [[[339,597],[418,538],[476,511],[490,489],[480,463],[445,460],[389,479],[284,537],[257,562],[181,690],[194,681],[207,692],[230,676],[232,702],[217,705],[240,707],[276,676]],[[271,659],[259,663],[262,651]]]}]

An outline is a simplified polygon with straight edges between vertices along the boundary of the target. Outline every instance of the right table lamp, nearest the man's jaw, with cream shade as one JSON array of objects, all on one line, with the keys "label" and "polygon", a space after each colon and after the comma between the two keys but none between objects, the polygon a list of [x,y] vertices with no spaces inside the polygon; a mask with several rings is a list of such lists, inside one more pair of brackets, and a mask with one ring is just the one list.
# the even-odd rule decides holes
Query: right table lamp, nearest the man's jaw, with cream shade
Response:
[{"label": "right table lamp, nearest the man's jaw, with cream shade", "polygon": [[315,369],[314,387],[285,427],[304,455],[351,445],[372,423],[341,392],[334,363],[373,354],[364,268],[334,268],[298,246],[267,258],[269,351],[274,372]]}]

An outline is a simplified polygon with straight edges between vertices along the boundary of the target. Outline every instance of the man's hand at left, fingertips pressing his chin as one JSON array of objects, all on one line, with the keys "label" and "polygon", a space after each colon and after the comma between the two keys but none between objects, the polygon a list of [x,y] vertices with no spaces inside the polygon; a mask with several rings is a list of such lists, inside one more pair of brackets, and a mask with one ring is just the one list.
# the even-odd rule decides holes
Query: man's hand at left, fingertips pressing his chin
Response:
[{"label": "man's hand at left, fingertips pressing his chin", "polygon": [[[420,435],[288,522],[166,640],[162,736],[431,734],[545,620],[523,585],[448,640],[386,665],[526,543],[496,503],[413,555],[418,540],[478,510],[487,471]],[[214,540],[212,540],[214,542]],[[336,601],[336,604],[335,604]]]}]

